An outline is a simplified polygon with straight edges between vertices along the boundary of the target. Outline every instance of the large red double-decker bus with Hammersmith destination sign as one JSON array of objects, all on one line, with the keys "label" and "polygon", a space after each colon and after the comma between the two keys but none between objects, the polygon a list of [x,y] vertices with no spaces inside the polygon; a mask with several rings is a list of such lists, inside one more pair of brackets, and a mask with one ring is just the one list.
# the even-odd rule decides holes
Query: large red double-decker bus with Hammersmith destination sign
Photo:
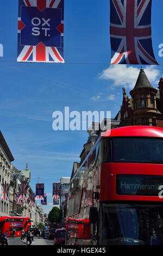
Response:
[{"label": "large red double-decker bus with Hammersmith destination sign", "polygon": [[70,183],[67,245],[163,245],[163,129],[106,131]]}]

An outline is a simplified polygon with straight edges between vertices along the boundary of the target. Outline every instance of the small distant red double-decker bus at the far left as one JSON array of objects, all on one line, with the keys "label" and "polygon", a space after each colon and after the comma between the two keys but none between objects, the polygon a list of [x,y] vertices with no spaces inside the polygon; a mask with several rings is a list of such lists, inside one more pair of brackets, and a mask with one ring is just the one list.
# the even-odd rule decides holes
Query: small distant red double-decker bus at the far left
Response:
[{"label": "small distant red double-decker bus at the far left", "polygon": [[26,232],[29,227],[31,227],[31,221],[28,217],[0,217],[1,233],[8,231],[8,236],[12,236],[13,229],[16,230],[15,236],[21,236],[21,230],[24,229]]}]

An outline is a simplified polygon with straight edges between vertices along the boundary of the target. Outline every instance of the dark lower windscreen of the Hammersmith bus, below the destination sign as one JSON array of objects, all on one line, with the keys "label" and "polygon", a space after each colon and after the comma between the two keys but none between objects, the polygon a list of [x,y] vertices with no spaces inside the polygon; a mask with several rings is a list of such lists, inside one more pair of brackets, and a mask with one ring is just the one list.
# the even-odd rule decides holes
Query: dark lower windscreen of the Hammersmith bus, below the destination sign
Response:
[{"label": "dark lower windscreen of the Hammersmith bus, below the destination sign", "polygon": [[[153,202],[140,203],[103,203],[102,245],[162,245],[163,207]],[[156,236],[153,241],[152,230]]]}]

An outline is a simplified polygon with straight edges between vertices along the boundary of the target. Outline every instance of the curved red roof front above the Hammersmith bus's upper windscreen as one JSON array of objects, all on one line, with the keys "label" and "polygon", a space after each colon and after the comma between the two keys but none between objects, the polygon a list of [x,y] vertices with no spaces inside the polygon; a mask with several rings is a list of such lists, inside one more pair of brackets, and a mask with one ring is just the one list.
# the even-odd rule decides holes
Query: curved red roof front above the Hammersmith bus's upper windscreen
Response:
[{"label": "curved red roof front above the Hammersmith bus's upper windscreen", "polygon": [[163,128],[155,126],[125,126],[104,132],[103,137],[137,136],[137,137],[163,137]]}]

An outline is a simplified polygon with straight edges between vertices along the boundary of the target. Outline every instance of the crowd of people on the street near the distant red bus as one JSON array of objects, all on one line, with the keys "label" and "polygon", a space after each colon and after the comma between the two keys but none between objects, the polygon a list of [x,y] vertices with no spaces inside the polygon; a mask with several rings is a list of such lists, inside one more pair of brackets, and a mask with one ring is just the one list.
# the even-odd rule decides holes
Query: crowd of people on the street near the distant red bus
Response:
[{"label": "crowd of people on the street near the distant red bus", "polygon": [[[15,237],[15,233],[16,233],[16,231],[13,229],[12,230],[12,238],[13,239]],[[24,231],[24,229],[22,229],[21,241],[26,239],[27,245],[31,245],[32,243],[34,243],[34,235],[36,235],[37,237],[39,236],[39,238],[45,239],[45,229],[38,229],[36,234],[34,234],[34,231],[30,228],[27,229],[26,232]],[[1,243],[1,245],[8,245],[8,231],[5,231],[4,234],[3,233],[0,234],[0,243]]]}]

